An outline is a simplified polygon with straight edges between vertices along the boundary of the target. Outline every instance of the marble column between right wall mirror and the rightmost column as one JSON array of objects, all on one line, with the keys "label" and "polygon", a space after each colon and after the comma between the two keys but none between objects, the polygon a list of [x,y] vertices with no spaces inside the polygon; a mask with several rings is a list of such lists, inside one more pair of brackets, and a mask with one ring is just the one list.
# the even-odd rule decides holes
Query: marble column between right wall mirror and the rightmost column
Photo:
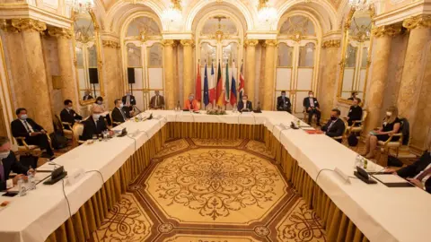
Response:
[{"label": "marble column between right wall mirror and the rightmost column", "polygon": [[380,26],[374,28],[374,54],[370,89],[366,93],[366,106],[368,116],[365,123],[365,132],[381,125],[381,109],[383,108],[383,93],[388,84],[388,67],[391,55],[392,37],[400,33],[400,26]]}]

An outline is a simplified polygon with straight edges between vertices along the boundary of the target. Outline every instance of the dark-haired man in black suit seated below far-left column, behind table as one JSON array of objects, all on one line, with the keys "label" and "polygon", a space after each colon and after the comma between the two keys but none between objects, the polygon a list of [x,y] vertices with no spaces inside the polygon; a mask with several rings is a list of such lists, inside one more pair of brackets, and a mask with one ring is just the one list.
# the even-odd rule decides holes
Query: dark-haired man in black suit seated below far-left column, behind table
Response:
[{"label": "dark-haired man in black suit seated below far-left column, behind table", "polygon": [[[28,118],[25,108],[18,108],[15,113],[18,119],[13,120],[11,123],[13,137],[24,137],[25,143],[38,145],[40,150],[46,151],[46,154],[42,154],[43,157],[53,158],[54,151],[52,151],[51,144],[48,141],[47,131],[31,118]],[[17,141],[22,145],[21,140]]]}]

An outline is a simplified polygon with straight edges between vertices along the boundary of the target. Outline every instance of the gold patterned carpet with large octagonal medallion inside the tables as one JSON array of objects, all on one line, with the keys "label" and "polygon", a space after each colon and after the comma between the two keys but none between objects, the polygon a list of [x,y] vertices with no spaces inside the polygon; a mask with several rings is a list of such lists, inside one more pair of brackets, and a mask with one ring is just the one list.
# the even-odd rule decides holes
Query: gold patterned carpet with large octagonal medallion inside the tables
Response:
[{"label": "gold patterned carpet with large octagonal medallion inside the tables", "polygon": [[166,143],[92,240],[326,241],[264,143],[212,139]]}]

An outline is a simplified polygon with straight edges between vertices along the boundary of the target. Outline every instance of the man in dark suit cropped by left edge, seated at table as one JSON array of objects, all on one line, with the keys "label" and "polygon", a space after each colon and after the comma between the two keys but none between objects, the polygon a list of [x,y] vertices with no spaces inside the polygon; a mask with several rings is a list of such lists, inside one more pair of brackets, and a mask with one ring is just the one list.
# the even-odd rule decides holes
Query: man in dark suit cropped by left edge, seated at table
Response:
[{"label": "man in dark suit cropped by left edge, seated at table", "polygon": [[[29,169],[16,160],[15,154],[11,151],[9,139],[0,136],[0,191],[6,190],[6,181],[9,179],[11,171],[18,174],[13,177],[13,185],[16,185],[20,177],[27,175]],[[30,169],[30,171],[35,172],[34,169]]]}]

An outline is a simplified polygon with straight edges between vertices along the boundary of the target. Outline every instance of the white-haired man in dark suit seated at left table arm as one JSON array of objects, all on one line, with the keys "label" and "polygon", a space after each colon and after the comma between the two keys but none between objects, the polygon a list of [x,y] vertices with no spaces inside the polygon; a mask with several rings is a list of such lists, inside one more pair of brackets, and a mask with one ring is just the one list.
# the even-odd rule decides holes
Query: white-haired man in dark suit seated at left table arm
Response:
[{"label": "white-haired man in dark suit seated at left table arm", "polygon": [[92,115],[83,122],[84,131],[80,140],[91,140],[92,135],[99,135],[103,131],[108,130],[108,126],[106,125],[104,118],[101,117],[102,113],[103,110],[100,107],[92,107]]}]

